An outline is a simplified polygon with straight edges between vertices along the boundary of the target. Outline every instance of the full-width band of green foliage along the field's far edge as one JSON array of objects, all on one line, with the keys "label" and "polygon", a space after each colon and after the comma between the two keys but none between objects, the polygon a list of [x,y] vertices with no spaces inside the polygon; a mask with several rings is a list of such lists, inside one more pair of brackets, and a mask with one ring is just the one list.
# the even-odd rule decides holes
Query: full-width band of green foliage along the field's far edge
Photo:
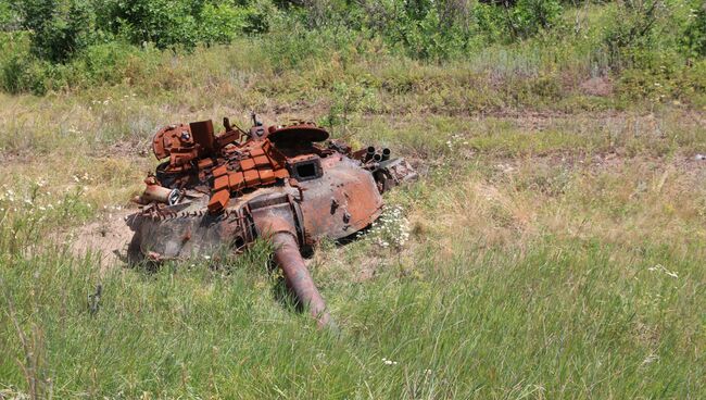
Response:
[{"label": "full-width band of green foliage along the field's far edge", "polygon": [[[26,29],[0,39],[0,88],[13,93],[142,82],[138,76],[161,62],[155,49],[169,49],[166,60],[237,42],[252,49],[242,55],[253,60],[249,67],[256,60],[257,68],[277,74],[330,63],[332,75],[348,70],[351,60],[388,55],[423,64],[467,62],[471,75],[488,68],[500,74],[492,86],[506,88],[510,101],[483,101],[499,107],[559,99],[580,84],[570,83],[579,76],[652,68],[663,55],[673,64],[670,71],[691,68],[706,42],[706,13],[694,0],[592,1],[577,9],[558,0],[13,0],[11,5],[0,8],[0,15],[15,15]],[[568,29],[575,17],[580,28]],[[569,83],[567,73],[573,76]],[[376,85],[399,80],[386,79]],[[178,85],[167,80],[160,85]],[[338,80],[329,76],[320,85],[332,88]],[[436,107],[467,103],[440,89],[426,95]]]}]

